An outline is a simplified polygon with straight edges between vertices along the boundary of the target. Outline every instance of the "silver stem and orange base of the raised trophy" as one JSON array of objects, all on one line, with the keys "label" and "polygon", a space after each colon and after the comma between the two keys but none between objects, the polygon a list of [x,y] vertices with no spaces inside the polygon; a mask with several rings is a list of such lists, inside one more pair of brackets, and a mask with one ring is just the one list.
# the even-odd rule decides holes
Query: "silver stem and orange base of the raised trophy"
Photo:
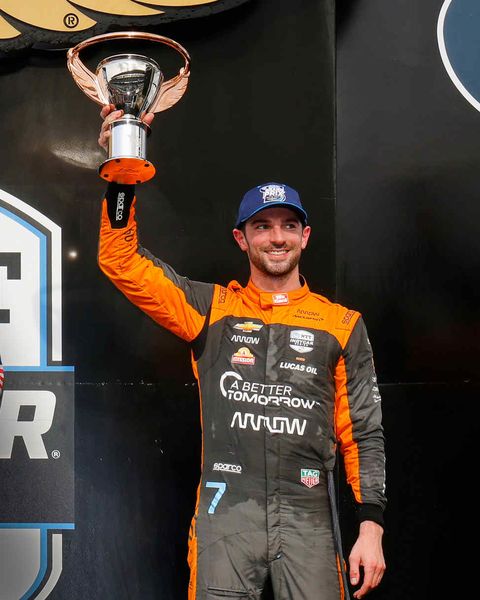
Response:
[{"label": "silver stem and orange base of the raised trophy", "polygon": [[106,181],[136,184],[155,175],[155,167],[146,158],[150,127],[140,119],[127,115],[110,125],[108,159],[99,167]]}]

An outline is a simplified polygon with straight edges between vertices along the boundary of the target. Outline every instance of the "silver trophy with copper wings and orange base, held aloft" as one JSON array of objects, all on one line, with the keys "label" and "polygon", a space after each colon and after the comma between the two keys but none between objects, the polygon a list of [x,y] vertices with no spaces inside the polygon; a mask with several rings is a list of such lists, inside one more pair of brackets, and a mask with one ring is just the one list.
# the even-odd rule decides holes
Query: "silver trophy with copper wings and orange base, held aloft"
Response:
[{"label": "silver trophy with copper wings and orange base, held aloft", "polygon": [[[184,59],[178,75],[164,80],[158,64],[140,54],[116,54],[104,58],[92,73],[80,52],[108,40],[140,39],[170,46]],[[99,167],[106,181],[135,184],[148,181],[155,167],[147,160],[150,127],[142,121],[147,112],[160,112],[176,104],[185,93],[190,75],[190,57],[180,44],[153,33],[123,31],[97,35],[80,42],[67,53],[67,66],[78,87],[94,102],[113,104],[123,116],[110,124],[108,158]]]}]

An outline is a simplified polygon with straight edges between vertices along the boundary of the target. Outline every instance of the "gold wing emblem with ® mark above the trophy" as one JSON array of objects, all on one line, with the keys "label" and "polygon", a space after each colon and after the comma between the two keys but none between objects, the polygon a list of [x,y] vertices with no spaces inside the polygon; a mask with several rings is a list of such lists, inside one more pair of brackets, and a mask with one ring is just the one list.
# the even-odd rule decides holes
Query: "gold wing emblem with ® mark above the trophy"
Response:
[{"label": "gold wing emblem with \u00ae mark above the trophy", "polygon": [[0,0],[0,52],[72,46],[112,29],[205,17],[248,0]]}]

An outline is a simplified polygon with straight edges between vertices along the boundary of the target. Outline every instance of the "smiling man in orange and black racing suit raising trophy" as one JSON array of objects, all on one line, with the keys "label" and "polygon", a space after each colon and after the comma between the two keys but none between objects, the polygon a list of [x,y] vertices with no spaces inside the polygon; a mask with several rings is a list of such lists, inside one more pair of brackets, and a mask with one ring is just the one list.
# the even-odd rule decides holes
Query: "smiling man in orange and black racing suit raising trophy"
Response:
[{"label": "smiling man in orange and black racing suit raising trophy", "polygon": [[[102,109],[102,147],[120,115]],[[360,314],[312,293],[300,276],[310,231],[295,190],[275,182],[249,190],[233,236],[250,280],[223,287],[180,277],[139,246],[134,186],[110,184],[103,202],[101,269],[192,348],[203,452],[189,600],[260,600],[267,585],[275,600],[348,597],[333,497],[337,444],[360,521],[349,557],[350,582],[361,583],[354,597],[385,570],[372,352]]]}]

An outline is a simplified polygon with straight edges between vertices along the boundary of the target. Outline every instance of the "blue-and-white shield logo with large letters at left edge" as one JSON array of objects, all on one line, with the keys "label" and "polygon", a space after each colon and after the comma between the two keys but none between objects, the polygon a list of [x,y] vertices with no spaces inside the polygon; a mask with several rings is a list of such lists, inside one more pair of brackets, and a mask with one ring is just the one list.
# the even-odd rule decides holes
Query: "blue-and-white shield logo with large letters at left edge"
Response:
[{"label": "blue-and-white shield logo with large letters at left edge", "polygon": [[61,229],[0,190],[0,599],[44,600],[73,529],[73,367],[62,363]]}]

